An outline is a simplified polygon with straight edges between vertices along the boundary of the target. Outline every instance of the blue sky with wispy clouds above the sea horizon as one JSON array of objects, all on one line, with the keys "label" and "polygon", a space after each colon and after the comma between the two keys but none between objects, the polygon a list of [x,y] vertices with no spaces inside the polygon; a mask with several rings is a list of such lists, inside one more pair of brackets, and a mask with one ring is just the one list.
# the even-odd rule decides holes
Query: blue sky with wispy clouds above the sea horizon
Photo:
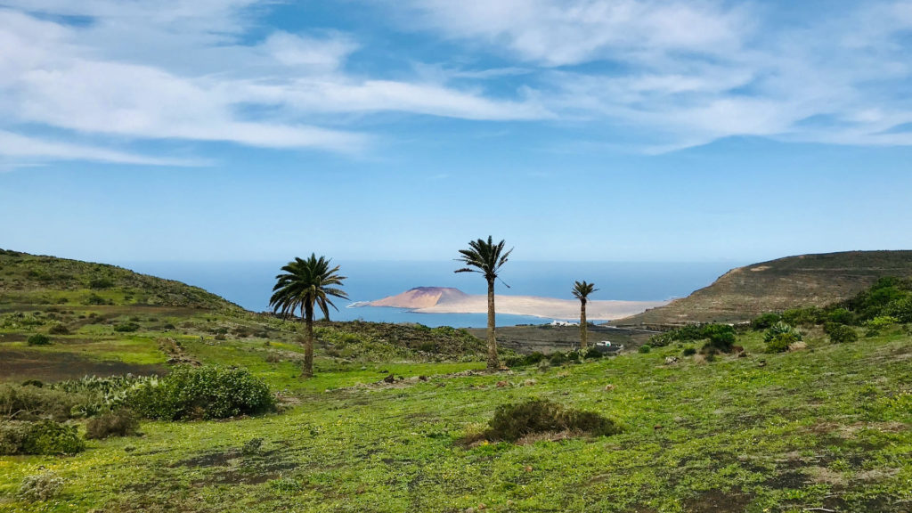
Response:
[{"label": "blue sky with wispy clouds above the sea horizon", "polygon": [[912,247],[912,1],[0,0],[0,247]]}]

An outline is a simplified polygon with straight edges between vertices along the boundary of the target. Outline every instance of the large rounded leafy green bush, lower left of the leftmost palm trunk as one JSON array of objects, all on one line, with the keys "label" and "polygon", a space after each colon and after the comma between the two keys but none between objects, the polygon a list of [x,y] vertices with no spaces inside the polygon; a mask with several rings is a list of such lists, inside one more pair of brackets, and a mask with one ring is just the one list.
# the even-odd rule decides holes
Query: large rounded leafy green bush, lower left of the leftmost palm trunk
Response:
[{"label": "large rounded leafy green bush, lower left of the leftmost palm trunk", "polygon": [[130,391],[127,403],[153,419],[217,419],[275,408],[269,387],[238,367],[180,367],[166,378]]}]

